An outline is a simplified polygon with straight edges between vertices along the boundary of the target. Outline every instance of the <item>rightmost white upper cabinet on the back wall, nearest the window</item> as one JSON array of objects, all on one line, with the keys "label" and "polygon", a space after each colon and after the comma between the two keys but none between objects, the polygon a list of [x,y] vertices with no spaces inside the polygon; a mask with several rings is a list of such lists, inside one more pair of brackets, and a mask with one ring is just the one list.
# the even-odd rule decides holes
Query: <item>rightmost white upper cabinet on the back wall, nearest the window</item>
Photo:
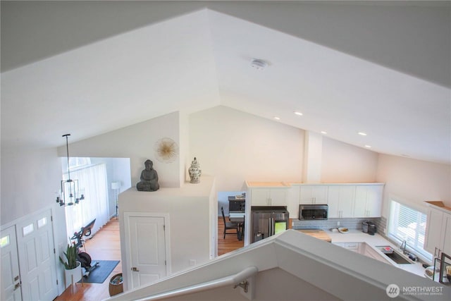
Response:
[{"label": "rightmost white upper cabinet on the back wall, nearest the window", "polygon": [[381,217],[383,184],[356,185],[354,217]]}]

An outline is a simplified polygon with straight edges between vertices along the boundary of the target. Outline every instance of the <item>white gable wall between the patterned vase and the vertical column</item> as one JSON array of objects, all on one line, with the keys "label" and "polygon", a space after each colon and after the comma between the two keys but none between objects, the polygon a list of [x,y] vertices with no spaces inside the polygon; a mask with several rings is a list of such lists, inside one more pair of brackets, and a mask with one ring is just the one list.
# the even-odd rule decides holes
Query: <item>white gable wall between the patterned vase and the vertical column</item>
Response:
[{"label": "white gable wall between the patterned vase and the vertical column", "polygon": [[202,175],[216,176],[218,191],[243,190],[245,180],[301,180],[303,141],[304,130],[226,106],[190,115],[191,157]]}]

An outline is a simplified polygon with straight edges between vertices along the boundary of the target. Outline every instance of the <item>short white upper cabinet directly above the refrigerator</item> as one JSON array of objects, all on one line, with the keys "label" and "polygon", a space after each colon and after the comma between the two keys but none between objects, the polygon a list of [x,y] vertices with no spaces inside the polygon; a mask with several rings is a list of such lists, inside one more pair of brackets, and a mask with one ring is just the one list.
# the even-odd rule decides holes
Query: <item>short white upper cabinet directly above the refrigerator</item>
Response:
[{"label": "short white upper cabinet directly above the refrigerator", "polygon": [[246,182],[251,206],[287,206],[288,188],[283,182]]}]

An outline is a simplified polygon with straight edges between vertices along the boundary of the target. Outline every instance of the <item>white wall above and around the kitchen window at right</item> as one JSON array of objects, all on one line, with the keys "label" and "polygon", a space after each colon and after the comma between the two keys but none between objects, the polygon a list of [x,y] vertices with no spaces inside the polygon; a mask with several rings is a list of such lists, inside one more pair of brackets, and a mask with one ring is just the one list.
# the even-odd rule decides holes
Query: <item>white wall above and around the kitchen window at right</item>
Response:
[{"label": "white wall above and around the kitchen window at right", "polygon": [[443,200],[451,206],[451,165],[380,154],[377,182],[385,183],[383,216],[388,217],[390,196],[424,207],[424,201]]}]

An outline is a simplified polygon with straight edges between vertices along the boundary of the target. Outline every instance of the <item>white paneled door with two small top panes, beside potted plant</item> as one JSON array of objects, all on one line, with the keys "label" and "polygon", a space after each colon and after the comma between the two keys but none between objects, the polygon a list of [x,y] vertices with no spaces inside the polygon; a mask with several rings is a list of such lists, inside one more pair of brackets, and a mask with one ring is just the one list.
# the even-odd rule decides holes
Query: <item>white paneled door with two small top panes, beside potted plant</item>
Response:
[{"label": "white paneled door with two small top panes, beside potted plant", "polygon": [[54,300],[58,295],[51,211],[16,224],[23,300]]}]

